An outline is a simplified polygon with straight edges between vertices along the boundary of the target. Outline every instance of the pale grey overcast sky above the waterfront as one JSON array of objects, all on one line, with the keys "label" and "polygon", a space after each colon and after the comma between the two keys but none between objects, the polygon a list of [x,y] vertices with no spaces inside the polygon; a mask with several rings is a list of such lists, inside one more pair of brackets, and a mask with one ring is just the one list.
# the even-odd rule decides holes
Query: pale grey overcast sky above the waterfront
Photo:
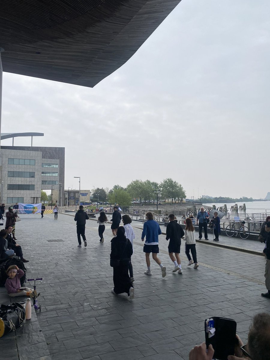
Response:
[{"label": "pale grey overcast sky above the waterfront", "polygon": [[264,198],[269,14],[268,0],[182,0],[93,89],[4,73],[1,132],[44,132],[34,146],[65,147],[66,189],[73,176],[81,189],[172,177],[188,198],[198,188]]}]

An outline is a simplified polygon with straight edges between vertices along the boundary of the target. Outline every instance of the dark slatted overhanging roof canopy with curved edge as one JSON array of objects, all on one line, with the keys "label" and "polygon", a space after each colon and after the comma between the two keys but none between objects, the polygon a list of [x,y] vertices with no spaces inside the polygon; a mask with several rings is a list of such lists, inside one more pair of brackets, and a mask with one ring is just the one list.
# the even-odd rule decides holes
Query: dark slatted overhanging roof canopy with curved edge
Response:
[{"label": "dark slatted overhanging roof canopy with curved edge", "polygon": [[181,0],[2,0],[3,71],[93,87]]}]

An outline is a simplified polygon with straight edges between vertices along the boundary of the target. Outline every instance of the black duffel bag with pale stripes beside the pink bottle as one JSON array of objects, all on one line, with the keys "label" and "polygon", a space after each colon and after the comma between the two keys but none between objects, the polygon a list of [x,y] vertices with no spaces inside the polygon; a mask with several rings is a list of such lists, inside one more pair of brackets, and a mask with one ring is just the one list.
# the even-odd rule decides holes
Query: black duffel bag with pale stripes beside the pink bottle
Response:
[{"label": "black duffel bag with pale stripes beside the pink bottle", "polygon": [[0,338],[23,325],[25,309],[19,302],[0,306]]}]

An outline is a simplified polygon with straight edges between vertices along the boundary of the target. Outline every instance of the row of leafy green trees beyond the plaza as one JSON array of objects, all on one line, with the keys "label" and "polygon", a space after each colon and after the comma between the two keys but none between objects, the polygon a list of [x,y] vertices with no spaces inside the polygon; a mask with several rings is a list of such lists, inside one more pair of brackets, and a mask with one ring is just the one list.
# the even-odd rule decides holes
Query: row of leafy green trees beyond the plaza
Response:
[{"label": "row of leafy green trees beyond the plaza", "polygon": [[164,179],[161,183],[150,180],[132,180],[123,188],[114,185],[112,189],[96,188],[93,193],[93,201],[97,200],[111,204],[115,202],[122,206],[130,205],[132,200],[142,201],[163,201],[170,199],[171,202],[181,202],[186,198],[185,191],[181,184],[171,178]]}]

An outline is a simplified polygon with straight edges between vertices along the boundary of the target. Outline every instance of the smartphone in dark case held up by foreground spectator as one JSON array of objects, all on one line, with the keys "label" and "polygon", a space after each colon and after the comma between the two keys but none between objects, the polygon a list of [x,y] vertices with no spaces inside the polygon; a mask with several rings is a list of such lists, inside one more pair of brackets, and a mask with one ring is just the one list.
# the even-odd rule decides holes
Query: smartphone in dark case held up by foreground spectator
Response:
[{"label": "smartphone in dark case held up by foreground spectator", "polygon": [[218,316],[204,321],[206,347],[210,344],[213,346],[213,359],[227,360],[228,355],[234,355],[234,348],[238,343],[236,325],[235,320]]}]

